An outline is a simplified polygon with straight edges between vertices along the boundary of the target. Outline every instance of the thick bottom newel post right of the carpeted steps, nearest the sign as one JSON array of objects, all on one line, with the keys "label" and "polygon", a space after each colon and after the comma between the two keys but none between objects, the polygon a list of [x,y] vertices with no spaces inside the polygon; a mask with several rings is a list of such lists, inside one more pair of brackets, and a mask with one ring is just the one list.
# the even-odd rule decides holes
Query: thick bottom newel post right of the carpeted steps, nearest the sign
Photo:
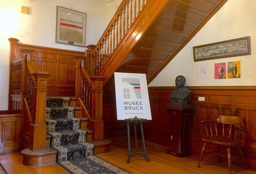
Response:
[{"label": "thick bottom newel post right of the carpeted steps, nearest the sign", "polygon": [[90,130],[93,131],[92,141],[98,142],[103,141],[103,81],[104,77],[93,76],[90,78],[92,81],[91,87],[91,119],[90,119]]}]

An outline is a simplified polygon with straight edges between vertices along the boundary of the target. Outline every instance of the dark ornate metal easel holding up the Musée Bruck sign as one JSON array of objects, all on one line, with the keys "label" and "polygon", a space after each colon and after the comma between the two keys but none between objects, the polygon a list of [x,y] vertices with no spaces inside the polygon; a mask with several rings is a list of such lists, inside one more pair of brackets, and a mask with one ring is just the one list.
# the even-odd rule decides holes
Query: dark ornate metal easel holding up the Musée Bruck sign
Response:
[{"label": "dark ornate metal easel holding up the Mus\u00e9e Bruck sign", "polygon": [[[140,157],[143,156],[144,158],[146,158],[147,162],[150,162],[150,159],[147,157],[144,133],[143,133],[143,127],[142,127],[142,123],[147,121],[147,119],[137,118],[137,116],[135,116],[134,118],[125,119],[125,121],[127,121],[127,133],[128,133],[128,153],[127,153],[128,159],[126,160],[126,163],[130,163],[131,158],[134,157],[135,154],[140,154]],[[136,151],[133,154],[131,154],[131,144],[130,144],[130,123],[131,122],[134,123],[135,144],[136,144]],[[141,134],[142,134],[142,142],[143,142],[143,148],[144,148],[143,153],[138,150],[136,125],[139,122],[141,124]]]}]

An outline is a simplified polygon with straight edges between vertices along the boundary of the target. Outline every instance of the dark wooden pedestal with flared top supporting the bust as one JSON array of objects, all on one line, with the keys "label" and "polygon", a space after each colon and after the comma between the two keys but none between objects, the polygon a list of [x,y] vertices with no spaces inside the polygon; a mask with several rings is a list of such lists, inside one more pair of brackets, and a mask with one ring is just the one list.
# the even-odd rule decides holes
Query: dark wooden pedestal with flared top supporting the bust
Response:
[{"label": "dark wooden pedestal with flared top supporting the bust", "polygon": [[169,115],[169,120],[173,128],[170,148],[168,154],[179,158],[191,155],[187,147],[187,135],[190,120],[195,112],[195,107],[192,105],[175,105],[168,104],[166,107]]}]

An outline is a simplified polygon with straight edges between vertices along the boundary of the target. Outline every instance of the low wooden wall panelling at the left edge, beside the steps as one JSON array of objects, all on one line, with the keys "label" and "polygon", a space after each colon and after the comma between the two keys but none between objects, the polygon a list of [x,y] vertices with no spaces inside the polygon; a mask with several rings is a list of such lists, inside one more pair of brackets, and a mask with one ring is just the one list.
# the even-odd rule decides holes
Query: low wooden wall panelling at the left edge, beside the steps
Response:
[{"label": "low wooden wall panelling at the left edge, beside the steps", "polygon": [[0,154],[20,150],[21,114],[0,115]]}]

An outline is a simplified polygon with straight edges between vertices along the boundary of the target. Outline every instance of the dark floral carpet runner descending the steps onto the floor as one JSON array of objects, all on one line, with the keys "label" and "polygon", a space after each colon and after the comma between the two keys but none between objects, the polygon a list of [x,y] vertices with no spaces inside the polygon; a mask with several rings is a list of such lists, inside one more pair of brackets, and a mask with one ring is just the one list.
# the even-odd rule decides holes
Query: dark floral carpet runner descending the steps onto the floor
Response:
[{"label": "dark floral carpet runner descending the steps onto the floor", "polygon": [[56,162],[70,173],[129,173],[93,155],[94,144],[86,142],[87,132],[80,129],[80,118],[69,97],[48,97],[46,101],[47,134],[57,151]]}]

